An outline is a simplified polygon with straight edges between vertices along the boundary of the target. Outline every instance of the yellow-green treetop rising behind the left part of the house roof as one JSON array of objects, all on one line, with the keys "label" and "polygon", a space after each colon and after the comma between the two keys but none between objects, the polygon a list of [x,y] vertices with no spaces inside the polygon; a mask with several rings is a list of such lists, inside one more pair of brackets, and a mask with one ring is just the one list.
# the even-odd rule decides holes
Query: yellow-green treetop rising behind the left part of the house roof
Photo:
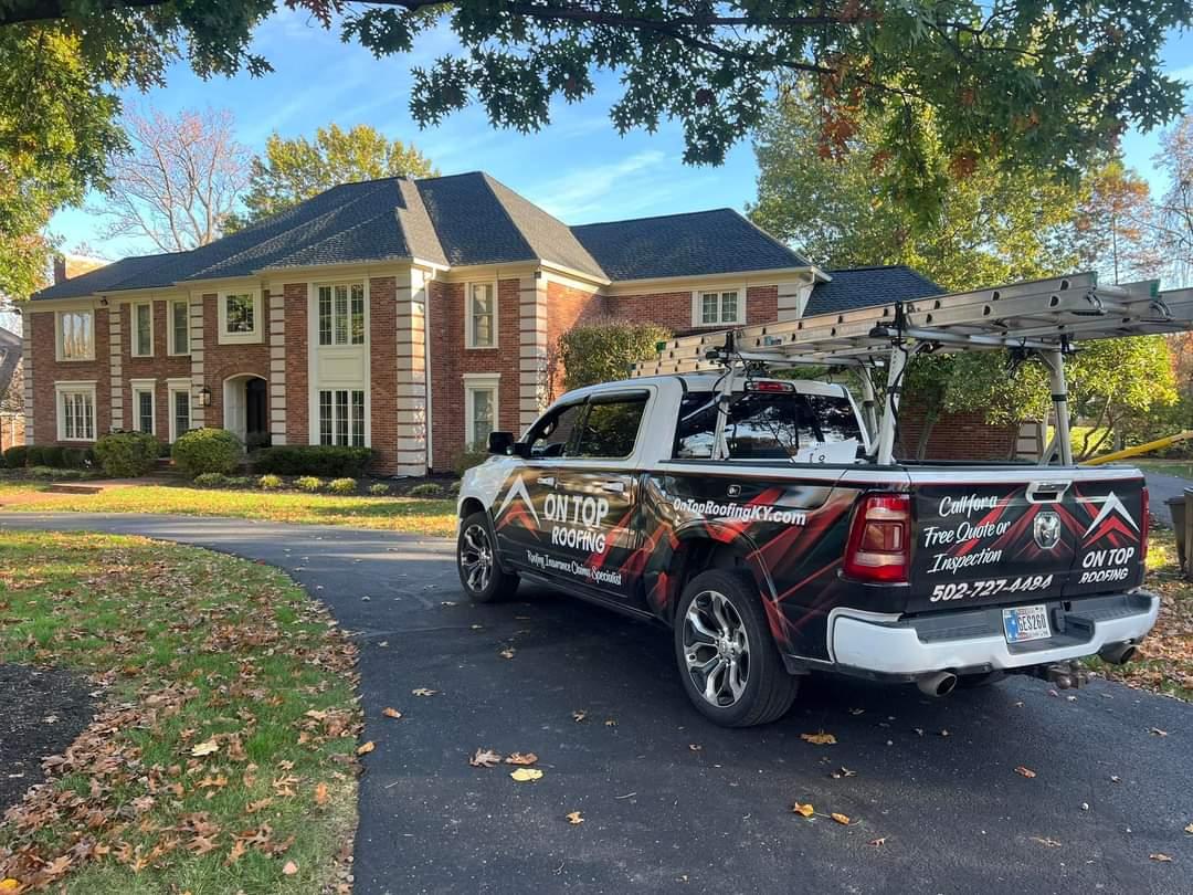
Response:
[{"label": "yellow-green treetop rising behind the left part of the house roof", "polygon": [[265,142],[265,155],[253,159],[245,227],[297,205],[338,184],[383,177],[434,177],[439,172],[422,153],[401,140],[390,141],[367,124],[342,130],[338,124],[320,128],[315,140],[284,140],[278,134]]}]

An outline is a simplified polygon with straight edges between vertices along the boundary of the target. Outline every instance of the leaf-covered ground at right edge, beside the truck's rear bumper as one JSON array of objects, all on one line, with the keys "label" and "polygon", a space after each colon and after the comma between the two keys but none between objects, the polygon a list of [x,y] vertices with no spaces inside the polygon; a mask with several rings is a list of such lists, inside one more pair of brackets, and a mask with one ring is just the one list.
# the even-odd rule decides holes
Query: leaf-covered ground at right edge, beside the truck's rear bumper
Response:
[{"label": "leaf-covered ground at right edge, beside the truck's rear bumper", "polygon": [[1193,584],[1181,578],[1176,541],[1168,529],[1152,527],[1148,549],[1148,590],[1160,594],[1160,618],[1129,665],[1090,666],[1130,686],[1193,702]]}]

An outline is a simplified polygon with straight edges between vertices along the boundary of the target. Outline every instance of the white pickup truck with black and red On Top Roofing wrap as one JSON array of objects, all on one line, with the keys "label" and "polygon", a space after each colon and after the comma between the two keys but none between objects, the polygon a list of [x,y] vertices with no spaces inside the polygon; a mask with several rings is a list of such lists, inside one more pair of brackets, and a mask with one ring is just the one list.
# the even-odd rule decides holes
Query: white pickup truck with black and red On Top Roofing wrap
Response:
[{"label": "white pickup truck with black and red On Top Roofing wrap", "polygon": [[494,432],[458,505],[471,599],[528,580],[657,619],[731,727],[780,717],[811,672],[1076,686],[1077,660],[1129,661],[1155,623],[1137,470],[879,464],[843,385],[724,376],[579,389]]}]

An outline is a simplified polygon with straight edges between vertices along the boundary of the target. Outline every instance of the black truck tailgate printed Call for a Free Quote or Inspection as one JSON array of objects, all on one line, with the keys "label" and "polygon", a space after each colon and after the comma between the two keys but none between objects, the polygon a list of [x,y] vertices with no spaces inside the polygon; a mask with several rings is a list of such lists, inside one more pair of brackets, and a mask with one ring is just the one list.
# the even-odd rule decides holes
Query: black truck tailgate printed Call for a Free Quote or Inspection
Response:
[{"label": "black truck tailgate printed Call for a Free Quote or Inspection", "polygon": [[1096,469],[915,470],[908,611],[1141,584],[1143,479]]}]

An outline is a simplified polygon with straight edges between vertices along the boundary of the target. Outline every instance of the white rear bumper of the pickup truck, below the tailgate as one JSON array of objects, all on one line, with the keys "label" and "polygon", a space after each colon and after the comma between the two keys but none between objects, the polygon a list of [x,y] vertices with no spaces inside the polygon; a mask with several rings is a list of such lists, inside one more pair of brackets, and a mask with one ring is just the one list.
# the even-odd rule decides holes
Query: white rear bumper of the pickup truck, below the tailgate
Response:
[{"label": "white rear bumper of the pickup truck, below the tailgate", "polygon": [[[898,618],[849,609],[829,619],[829,649],[840,671],[916,677],[1047,665],[1137,642],[1151,630],[1160,598],[1146,591],[1049,603],[1053,634],[1007,643],[1002,607]],[[1068,609],[1065,606],[1068,605]]]}]

